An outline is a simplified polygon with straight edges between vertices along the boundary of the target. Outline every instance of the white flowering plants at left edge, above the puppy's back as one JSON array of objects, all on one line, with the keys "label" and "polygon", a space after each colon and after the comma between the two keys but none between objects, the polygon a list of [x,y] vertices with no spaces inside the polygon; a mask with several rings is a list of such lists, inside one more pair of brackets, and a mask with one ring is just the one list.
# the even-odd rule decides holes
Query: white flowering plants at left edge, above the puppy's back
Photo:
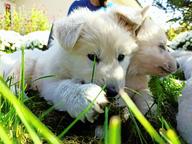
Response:
[{"label": "white flowering plants at left edge, above the puppy's back", "polygon": [[0,30],[0,51],[12,53],[20,50],[22,45],[25,45],[25,49],[46,50],[48,37],[49,31],[37,31],[22,36],[14,31]]}]

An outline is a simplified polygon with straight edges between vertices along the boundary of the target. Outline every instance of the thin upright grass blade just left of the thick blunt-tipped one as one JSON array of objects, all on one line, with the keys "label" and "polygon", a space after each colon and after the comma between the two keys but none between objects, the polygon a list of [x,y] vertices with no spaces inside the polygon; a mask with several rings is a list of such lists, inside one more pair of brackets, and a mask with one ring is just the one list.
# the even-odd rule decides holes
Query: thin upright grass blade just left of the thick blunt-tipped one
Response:
[{"label": "thin upright grass blade just left of the thick blunt-tipped one", "polygon": [[108,141],[108,131],[109,131],[109,108],[108,107],[105,107],[105,122],[104,122],[104,144],[109,144],[109,141]]}]

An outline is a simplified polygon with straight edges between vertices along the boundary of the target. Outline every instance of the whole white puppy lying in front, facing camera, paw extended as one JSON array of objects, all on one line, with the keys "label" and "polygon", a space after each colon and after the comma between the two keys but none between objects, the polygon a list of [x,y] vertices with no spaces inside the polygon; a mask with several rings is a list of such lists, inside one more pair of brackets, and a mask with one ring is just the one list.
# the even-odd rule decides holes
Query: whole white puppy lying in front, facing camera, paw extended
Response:
[{"label": "whole white puppy lying in front, facing camera, paw extended", "polygon": [[[54,27],[55,40],[47,51],[25,51],[25,78],[30,80],[54,75],[31,85],[56,109],[77,117],[91,102],[93,108],[85,115],[93,122],[107,104],[107,92],[116,95],[125,86],[125,75],[130,58],[137,50],[130,24],[142,23],[143,10],[113,9],[90,12],[75,11],[58,21]],[[20,52],[0,57],[0,72],[4,76],[20,78]],[[93,61],[96,61],[93,83]],[[97,97],[98,96],[98,97]],[[97,97],[97,98],[96,98]],[[84,118],[82,118],[84,120]]]}]

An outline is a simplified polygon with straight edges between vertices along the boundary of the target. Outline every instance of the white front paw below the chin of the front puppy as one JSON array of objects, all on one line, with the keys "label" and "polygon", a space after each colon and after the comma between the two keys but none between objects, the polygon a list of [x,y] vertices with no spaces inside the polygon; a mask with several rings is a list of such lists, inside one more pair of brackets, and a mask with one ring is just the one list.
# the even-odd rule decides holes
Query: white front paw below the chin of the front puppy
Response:
[{"label": "white front paw below the chin of the front puppy", "polygon": [[[83,84],[77,94],[78,103],[75,104],[75,117],[86,109],[91,103],[92,108],[85,114],[88,121],[93,122],[99,113],[103,113],[103,107],[108,103],[106,93],[95,84]],[[81,119],[84,121],[84,117]]]}]

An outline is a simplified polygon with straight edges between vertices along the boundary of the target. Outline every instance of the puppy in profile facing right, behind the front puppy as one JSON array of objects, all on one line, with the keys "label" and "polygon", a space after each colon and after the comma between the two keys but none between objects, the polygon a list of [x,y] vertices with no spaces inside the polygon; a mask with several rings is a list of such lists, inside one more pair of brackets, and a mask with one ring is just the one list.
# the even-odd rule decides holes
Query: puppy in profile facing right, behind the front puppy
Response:
[{"label": "puppy in profile facing right, behind the front puppy", "polygon": [[131,58],[126,86],[140,93],[131,94],[141,112],[146,113],[154,104],[148,89],[149,75],[165,76],[175,72],[177,66],[175,58],[166,50],[165,31],[151,18],[144,19],[136,39],[139,49]]}]

